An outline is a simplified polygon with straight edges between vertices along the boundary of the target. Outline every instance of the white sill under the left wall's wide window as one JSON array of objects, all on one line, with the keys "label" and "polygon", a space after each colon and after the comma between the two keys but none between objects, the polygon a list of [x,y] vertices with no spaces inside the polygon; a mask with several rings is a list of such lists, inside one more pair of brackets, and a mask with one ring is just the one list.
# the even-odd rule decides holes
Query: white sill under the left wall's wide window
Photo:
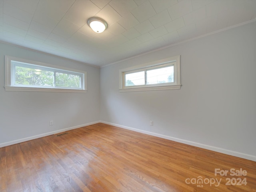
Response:
[{"label": "white sill under the left wall's wide window", "polygon": [[6,91],[86,93],[87,90],[4,86]]}]

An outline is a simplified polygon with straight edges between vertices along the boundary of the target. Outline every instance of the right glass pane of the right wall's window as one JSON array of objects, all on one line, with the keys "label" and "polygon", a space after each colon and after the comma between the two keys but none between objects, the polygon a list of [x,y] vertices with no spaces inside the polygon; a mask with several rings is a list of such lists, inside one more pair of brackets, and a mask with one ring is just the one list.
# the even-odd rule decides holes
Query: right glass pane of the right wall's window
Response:
[{"label": "right glass pane of the right wall's window", "polygon": [[147,84],[173,83],[174,66],[147,70]]}]

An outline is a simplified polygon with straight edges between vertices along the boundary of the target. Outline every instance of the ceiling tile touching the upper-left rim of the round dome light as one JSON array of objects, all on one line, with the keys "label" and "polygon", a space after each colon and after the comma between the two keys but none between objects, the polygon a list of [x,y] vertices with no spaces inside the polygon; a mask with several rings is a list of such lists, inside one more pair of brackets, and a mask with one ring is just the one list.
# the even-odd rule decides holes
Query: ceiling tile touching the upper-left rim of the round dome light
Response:
[{"label": "ceiling tile touching the upper-left rim of the round dome light", "polygon": [[64,18],[78,26],[83,26],[87,24],[88,18],[95,16],[99,11],[100,8],[89,0],[76,0]]}]

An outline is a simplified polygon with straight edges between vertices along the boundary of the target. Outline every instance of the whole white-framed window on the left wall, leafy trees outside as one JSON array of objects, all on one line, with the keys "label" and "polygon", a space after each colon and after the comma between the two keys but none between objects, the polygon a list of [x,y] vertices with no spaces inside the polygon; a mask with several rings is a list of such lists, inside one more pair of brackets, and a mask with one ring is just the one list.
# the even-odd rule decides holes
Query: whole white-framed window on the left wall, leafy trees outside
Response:
[{"label": "whole white-framed window on the left wall, leafy trees outside", "polygon": [[5,90],[86,92],[86,72],[5,56]]}]

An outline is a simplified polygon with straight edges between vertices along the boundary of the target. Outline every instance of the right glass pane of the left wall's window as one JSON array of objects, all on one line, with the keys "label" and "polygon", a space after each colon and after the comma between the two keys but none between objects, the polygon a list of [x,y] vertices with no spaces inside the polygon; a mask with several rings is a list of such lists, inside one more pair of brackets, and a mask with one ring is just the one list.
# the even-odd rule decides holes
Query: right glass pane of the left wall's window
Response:
[{"label": "right glass pane of the left wall's window", "polygon": [[56,72],[56,87],[81,88],[81,76]]}]

